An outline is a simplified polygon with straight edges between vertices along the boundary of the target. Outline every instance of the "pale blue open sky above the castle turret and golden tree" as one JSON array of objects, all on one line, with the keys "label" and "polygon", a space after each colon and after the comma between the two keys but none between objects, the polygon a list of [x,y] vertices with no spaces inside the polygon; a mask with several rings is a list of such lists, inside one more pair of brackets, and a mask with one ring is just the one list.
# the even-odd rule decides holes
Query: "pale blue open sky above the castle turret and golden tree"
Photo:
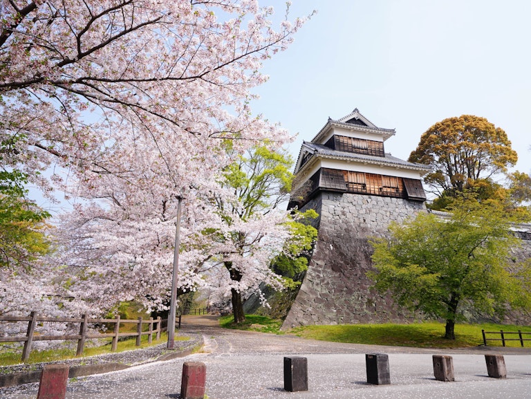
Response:
[{"label": "pale blue open sky above the castle turret and golden tree", "polygon": [[[261,0],[278,12],[285,1]],[[407,159],[432,124],[463,114],[509,136],[516,169],[531,172],[531,2],[294,0],[292,16],[318,10],[284,53],[254,111],[299,133],[296,157],[328,116],[357,108],[395,128],[386,151]]]}]

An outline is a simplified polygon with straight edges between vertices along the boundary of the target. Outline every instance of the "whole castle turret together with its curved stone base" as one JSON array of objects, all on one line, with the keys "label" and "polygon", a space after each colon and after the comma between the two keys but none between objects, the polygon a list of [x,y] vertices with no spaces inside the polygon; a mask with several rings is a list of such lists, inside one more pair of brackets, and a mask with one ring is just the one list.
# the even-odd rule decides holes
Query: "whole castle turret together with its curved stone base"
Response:
[{"label": "whole castle turret together with its curved stone base", "polygon": [[301,146],[289,206],[316,210],[318,235],[283,328],[414,317],[372,290],[366,277],[372,268],[369,238],[386,234],[391,221],[426,210],[420,178],[430,168],[386,153],[384,142],[394,135],[355,109],[329,118]]}]

